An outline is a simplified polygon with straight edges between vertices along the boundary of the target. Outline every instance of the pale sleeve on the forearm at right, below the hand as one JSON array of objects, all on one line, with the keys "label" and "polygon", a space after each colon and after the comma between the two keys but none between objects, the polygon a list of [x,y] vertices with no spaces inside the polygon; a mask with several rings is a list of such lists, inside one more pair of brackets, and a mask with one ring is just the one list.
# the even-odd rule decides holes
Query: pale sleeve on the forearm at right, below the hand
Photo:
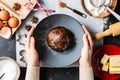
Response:
[{"label": "pale sleeve on the forearm at right, below the hand", "polygon": [[92,67],[79,68],[79,80],[94,80]]}]

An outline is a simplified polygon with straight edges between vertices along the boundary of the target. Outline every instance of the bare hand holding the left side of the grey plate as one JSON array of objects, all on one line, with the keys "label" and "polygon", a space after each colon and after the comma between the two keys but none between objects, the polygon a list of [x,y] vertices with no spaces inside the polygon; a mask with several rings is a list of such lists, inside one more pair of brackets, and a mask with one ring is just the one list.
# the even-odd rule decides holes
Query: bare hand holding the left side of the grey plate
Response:
[{"label": "bare hand holding the left side of the grey plate", "polygon": [[27,64],[30,67],[38,67],[39,56],[38,56],[38,52],[35,49],[35,39],[32,36],[33,31],[34,31],[34,27],[31,28],[30,32],[27,35],[27,44],[26,44]]}]

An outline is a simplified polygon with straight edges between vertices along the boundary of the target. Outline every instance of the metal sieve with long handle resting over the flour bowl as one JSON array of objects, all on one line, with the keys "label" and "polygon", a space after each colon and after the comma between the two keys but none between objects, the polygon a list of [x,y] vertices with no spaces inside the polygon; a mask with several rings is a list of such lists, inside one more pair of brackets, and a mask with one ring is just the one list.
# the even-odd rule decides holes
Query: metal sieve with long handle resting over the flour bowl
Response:
[{"label": "metal sieve with long handle resting over the flour bowl", "polygon": [[[100,4],[97,4],[97,2],[100,2]],[[114,12],[112,9],[110,9],[108,6],[104,5],[106,0],[90,0],[91,4],[97,8],[105,6],[106,9],[118,20],[120,21],[120,15],[118,15],[116,12]]]}]

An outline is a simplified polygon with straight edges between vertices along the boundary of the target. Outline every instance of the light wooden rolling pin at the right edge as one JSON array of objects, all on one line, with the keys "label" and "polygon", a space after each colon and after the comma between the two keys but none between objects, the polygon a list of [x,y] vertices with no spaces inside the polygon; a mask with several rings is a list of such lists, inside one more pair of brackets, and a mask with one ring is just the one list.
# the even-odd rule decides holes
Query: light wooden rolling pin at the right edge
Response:
[{"label": "light wooden rolling pin at the right edge", "polygon": [[110,25],[109,29],[105,30],[104,32],[95,34],[95,39],[98,40],[110,35],[113,37],[120,35],[120,22]]}]

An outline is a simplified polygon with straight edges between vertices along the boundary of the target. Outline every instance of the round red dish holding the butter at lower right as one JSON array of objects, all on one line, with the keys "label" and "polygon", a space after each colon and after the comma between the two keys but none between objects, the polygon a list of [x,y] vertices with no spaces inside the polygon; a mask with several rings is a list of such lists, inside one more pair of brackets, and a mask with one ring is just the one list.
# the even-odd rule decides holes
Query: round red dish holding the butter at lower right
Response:
[{"label": "round red dish holding the butter at lower right", "polygon": [[101,78],[102,80],[117,80],[120,78],[120,74],[109,74],[109,72],[102,71],[102,64],[100,63],[101,58],[104,56],[104,54],[108,55],[120,55],[120,48],[116,45],[107,44],[99,49],[97,49],[93,53],[92,57],[92,66],[93,70],[96,76]]}]

